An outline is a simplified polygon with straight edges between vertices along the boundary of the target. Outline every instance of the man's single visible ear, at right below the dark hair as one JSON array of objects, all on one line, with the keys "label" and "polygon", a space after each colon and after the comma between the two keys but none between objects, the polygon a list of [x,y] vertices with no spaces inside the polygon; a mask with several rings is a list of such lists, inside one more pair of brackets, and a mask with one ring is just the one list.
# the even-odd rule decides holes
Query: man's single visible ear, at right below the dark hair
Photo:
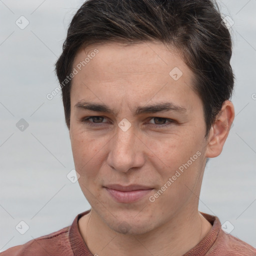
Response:
[{"label": "man's single visible ear, at right below the dark hair", "polygon": [[233,119],[234,106],[231,101],[226,100],[209,131],[205,157],[216,157],[221,153]]}]

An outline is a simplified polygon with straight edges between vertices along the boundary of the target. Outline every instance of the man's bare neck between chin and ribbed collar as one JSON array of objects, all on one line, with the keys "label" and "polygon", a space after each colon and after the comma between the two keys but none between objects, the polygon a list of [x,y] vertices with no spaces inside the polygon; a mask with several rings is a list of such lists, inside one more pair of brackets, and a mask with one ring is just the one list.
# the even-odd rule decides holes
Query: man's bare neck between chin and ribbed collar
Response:
[{"label": "man's bare neck between chin and ribbed collar", "polygon": [[93,255],[180,256],[198,244],[211,224],[198,210],[179,212],[167,223],[144,234],[121,234],[110,229],[94,210],[78,221],[83,240]]}]

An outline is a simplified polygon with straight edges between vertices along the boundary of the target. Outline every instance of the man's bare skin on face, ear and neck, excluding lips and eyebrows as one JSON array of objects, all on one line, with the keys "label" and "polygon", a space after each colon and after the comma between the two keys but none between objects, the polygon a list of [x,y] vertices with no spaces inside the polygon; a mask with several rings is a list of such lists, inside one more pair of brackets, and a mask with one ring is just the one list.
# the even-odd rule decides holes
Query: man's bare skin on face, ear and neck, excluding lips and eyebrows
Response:
[{"label": "man's bare skin on face, ear and neck, excluding lips and eyebrows", "polygon": [[[92,254],[99,256],[113,251],[123,256],[182,255],[211,228],[198,212],[201,181],[206,157],[221,153],[234,118],[233,104],[224,102],[205,138],[193,73],[175,49],[157,42],[90,45],[77,52],[73,67],[95,48],[98,53],[73,77],[70,92],[73,159],[91,205],[89,214],[78,221],[80,233]],[[178,80],[169,75],[174,67],[183,73]],[[114,113],[76,107],[81,101],[105,104]],[[137,107],[160,102],[186,111],[135,115]],[[84,122],[90,116],[98,117]],[[131,124],[126,131],[118,126],[123,118]],[[198,151],[200,156],[149,201]],[[152,190],[136,202],[119,203],[104,188],[113,183],[142,184]]]}]

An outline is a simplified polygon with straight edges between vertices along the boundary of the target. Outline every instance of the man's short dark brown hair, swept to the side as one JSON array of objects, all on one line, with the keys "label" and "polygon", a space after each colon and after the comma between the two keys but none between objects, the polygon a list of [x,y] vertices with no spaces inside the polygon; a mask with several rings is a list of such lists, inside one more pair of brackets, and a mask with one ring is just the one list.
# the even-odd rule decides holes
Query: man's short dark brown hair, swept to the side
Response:
[{"label": "man's short dark brown hair, swept to the side", "polygon": [[[60,83],[70,74],[78,49],[93,43],[159,41],[179,50],[193,71],[193,89],[203,102],[206,135],[230,99],[234,75],[232,41],[214,0],[87,0],[73,16],[56,61]],[[70,86],[61,86],[70,125]]]}]

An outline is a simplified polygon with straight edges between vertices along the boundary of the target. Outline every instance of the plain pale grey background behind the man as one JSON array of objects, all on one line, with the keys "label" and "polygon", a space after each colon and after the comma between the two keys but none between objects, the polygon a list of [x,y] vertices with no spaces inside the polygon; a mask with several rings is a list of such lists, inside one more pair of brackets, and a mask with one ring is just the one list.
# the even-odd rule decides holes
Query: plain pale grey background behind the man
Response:
[{"label": "plain pale grey background behind the man", "polygon": [[[0,0],[0,251],[70,225],[90,208],[66,176],[74,164],[61,94],[46,98],[82,2]],[[205,169],[199,210],[229,221],[232,235],[256,247],[256,0],[218,3],[234,21],[236,116],[221,155]],[[24,234],[20,221],[29,227]]]}]

